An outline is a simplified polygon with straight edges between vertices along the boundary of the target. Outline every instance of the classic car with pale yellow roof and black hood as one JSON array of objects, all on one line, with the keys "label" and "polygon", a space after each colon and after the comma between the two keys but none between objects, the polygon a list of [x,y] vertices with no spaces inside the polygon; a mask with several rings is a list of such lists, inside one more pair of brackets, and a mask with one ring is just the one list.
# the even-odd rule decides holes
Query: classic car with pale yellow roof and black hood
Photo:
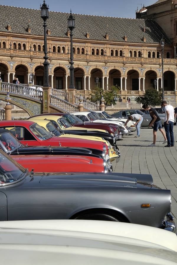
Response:
[{"label": "classic car with pale yellow roof and black hood", "polygon": [[[67,115],[69,116],[70,114],[67,113]],[[70,115],[71,116],[71,115]],[[63,120],[63,118],[65,120]],[[72,116],[71,116],[72,118]],[[82,130],[80,130],[80,128],[78,127],[78,129],[75,127],[74,130],[72,130],[72,125],[70,123],[68,123],[68,120],[66,120],[65,116],[57,116],[57,115],[38,115],[38,116],[32,116],[30,118],[28,118],[27,120],[50,120],[53,125],[60,131],[60,135],[62,135],[62,133],[64,133],[64,137],[66,137],[67,135],[82,135],[82,136],[96,136],[96,137],[101,137],[104,138],[106,141],[109,141],[109,143],[111,145],[114,145],[116,142],[116,138],[112,135],[110,135],[109,133],[106,132],[99,132],[97,131],[91,131],[87,130],[85,128],[82,128]],[[65,129],[63,129],[63,127],[65,127]],[[69,128],[69,130],[67,130]],[[56,135],[55,135],[56,136]]]}]

